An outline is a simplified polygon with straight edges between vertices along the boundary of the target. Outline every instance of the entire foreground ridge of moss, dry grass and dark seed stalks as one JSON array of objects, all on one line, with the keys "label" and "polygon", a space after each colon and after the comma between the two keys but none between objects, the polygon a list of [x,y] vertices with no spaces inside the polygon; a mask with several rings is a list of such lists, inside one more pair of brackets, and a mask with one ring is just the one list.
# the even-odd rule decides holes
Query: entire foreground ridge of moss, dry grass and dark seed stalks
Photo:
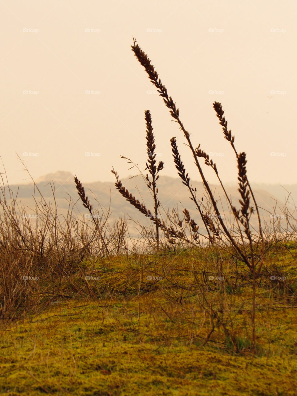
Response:
[{"label": "entire foreground ridge of moss, dry grass and dark seed stalks", "polygon": [[[2,180],[0,391],[295,396],[296,211],[285,206],[284,221],[262,223],[247,155],[237,152],[223,108],[214,102],[238,165],[240,199],[232,202],[217,165],[200,144],[192,144],[195,137],[136,40],[132,50],[179,124],[207,199],[197,195],[173,137],[173,161],[196,211],[183,208],[181,216],[173,209],[160,217],[164,163],[156,162],[149,110],[143,179],[151,206],[112,169],[122,199],[151,221],[152,227],[142,228],[145,244],[129,238],[125,220],[110,225],[109,209],[94,209],[78,177],[79,200],[89,216],[82,220],[74,217],[71,202],[67,215],[59,216],[39,190],[36,215],[27,217]],[[225,192],[230,219],[204,177],[205,165]]]}]

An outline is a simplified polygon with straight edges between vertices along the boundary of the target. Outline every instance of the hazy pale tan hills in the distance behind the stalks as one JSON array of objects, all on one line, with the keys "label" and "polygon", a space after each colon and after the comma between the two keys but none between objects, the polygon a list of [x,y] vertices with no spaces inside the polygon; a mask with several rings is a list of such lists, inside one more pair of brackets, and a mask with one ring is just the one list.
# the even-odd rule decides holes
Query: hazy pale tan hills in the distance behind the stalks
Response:
[{"label": "hazy pale tan hills in the distance behind the stalks", "polygon": [[[79,178],[79,175],[77,175]],[[139,222],[141,225],[149,225],[149,219],[146,219],[139,211],[137,211],[131,204],[129,204],[116,190],[114,183],[95,181],[93,183],[84,183],[81,180],[82,185],[85,187],[86,194],[89,196],[91,204],[94,208],[98,209],[98,213],[102,213],[100,206],[103,208],[109,208],[110,202],[110,219],[119,219],[120,217],[126,219],[133,219],[135,222]],[[150,197],[150,192],[145,185],[141,176],[122,179],[123,185],[128,188],[128,190],[135,195],[137,199],[143,202],[147,208],[152,211],[152,199]],[[58,213],[61,215],[66,215],[69,200],[72,203],[77,202],[76,209],[74,210],[74,215],[83,216],[88,214],[88,210],[82,206],[79,200],[76,186],[74,184],[74,175],[70,172],[58,171],[55,173],[49,173],[36,179],[36,185],[44,198],[53,204],[53,192],[55,191],[55,200],[58,206]],[[192,181],[193,187],[197,189],[197,198],[201,199],[204,197],[204,202],[206,202],[205,190],[202,182]],[[51,188],[52,186],[52,188]],[[137,188],[136,188],[137,186]],[[35,189],[33,183],[28,183],[26,185],[11,185],[11,190],[14,196],[17,194],[17,202],[21,203],[22,207],[25,207],[27,213],[34,213],[34,200],[32,195],[35,195],[37,201],[39,200],[40,194]],[[173,178],[169,176],[160,176],[158,180],[159,193],[158,197],[164,210],[171,211],[172,208],[177,208],[179,213],[183,208],[187,208],[190,211],[191,217],[200,225],[200,232],[202,232],[202,221],[199,218],[198,210],[196,209],[192,200],[190,200],[190,194],[187,187],[183,185],[181,179]],[[285,190],[280,186],[274,185],[252,185],[258,206],[260,207],[260,215],[264,221],[269,221],[270,213],[273,211],[273,207],[277,202],[276,213],[282,213],[281,208],[284,206],[284,192]],[[217,200],[219,200],[219,209],[228,217],[227,202],[224,198],[223,191],[219,185],[211,185],[211,189],[215,194]],[[297,195],[297,185],[291,185],[292,196]],[[238,185],[228,185],[227,192],[232,198],[233,204],[236,208],[239,208],[238,199],[240,198],[238,193]],[[287,193],[286,193],[287,194]],[[221,200],[220,200],[221,198]],[[161,209],[161,214],[164,217],[165,212]],[[166,217],[166,216],[165,216]],[[129,220],[130,231],[132,234],[138,234],[135,223]],[[257,227],[257,217],[254,215],[252,217],[251,224]]]}]

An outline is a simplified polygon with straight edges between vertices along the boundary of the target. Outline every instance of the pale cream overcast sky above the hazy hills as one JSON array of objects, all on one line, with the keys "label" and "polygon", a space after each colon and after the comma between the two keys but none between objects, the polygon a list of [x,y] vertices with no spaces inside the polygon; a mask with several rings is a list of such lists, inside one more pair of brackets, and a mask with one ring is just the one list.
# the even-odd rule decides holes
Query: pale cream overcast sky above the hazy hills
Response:
[{"label": "pale cream overcast sky above the hazy hills", "polygon": [[162,174],[177,177],[176,136],[190,177],[200,180],[131,51],[132,36],[223,180],[236,181],[236,161],[213,101],[247,153],[251,181],[297,182],[295,0],[5,0],[1,15],[0,155],[10,184],[28,179],[16,153],[36,178],[64,170],[83,182],[113,181],[112,166],[122,178],[133,173],[120,155],[143,169],[147,109]]}]

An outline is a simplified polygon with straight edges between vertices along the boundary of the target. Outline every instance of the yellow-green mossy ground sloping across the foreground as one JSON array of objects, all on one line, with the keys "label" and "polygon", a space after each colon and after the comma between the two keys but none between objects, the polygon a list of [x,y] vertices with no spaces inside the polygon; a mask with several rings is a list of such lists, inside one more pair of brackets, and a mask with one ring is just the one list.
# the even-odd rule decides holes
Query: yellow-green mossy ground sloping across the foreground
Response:
[{"label": "yellow-green mossy ground sloping across the foreground", "polygon": [[[267,263],[293,279],[295,253],[295,249],[273,253]],[[202,258],[192,252],[106,260],[100,267],[105,271],[100,284],[109,287],[101,289],[100,299],[61,301],[2,331],[0,392],[6,396],[295,396],[296,301],[275,284],[268,287],[270,280],[265,283],[264,278],[257,290],[255,357],[247,342],[251,289],[244,283],[223,294],[226,323],[239,340],[239,350],[236,353],[221,327],[203,345],[210,318],[207,309],[198,305],[197,295],[187,294],[187,287],[195,289],[195,278],[187,270],[211,273],[214,260],[213,255]],[[225,267],[224,274],[231,279],[232,267]],[[156,290],[148,291],[146,276],[152,273],[165,276]],[[183,295],[176,284],[187,286]],[[206,297],[213,306],[221,306],[220,296],[211,284]]]}]

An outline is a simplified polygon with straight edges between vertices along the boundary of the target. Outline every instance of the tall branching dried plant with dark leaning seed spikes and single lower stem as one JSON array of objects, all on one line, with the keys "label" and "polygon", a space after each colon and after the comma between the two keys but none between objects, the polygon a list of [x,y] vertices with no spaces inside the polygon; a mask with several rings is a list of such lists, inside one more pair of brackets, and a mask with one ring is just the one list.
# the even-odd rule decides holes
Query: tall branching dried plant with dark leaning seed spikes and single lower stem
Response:
[{"label": "tall branching dried plant with dark leaning seed spikes and single lower stem", "polygon": [[[236,256],[240,258],[251,270],[253,274],[253,307],[252,307],[252,312],[251,312],[251,319],[252,319],[252,325],[253,325],[253,350],[255,350],[255,267],[256,265],[261,261],[261,258],[256,262],[254,253],[253,253],[253,244],[256,242],[251,234],[251,227],[250,227],[250,217],[253,213],[253,208],[250,206],[250,200],[249,200],[249,194],[251,193],[254,204],[256,206],[256,211],[258,215],[258,222],[259,222],[259,234],[260,238],[263,240],[263,232],[261,228],[261,219],[259,215],[259,210],[257,203],[255,201],[255,197],[253,195],[253,192],[251,190],[251,187],[249,185],[249,182],[247,180],[247,171],[246,171],[246,153],[241,152],[237,153],[236,148],[234,146],[234,136],[232,136],[232,133],[230,130],[227,129],[227,121],[225,117],[223,116],[224,111],[222,109],[222,106],[220,103],[215,102],[213,103],[213,108],[215,109],[217,113],[217,117],[219,118],[219,122],[221,126],[223,126],[223,132],[225,135],[225,139],[227,139],[237,158],[237,163],[238,163],[238,181],[239,181],[239,188],[238,191],[240,193],[241,199],[239,200],[240,203],[240,210],[236,209],[235,206],[233,206],[231,199],[229,198],[225,187],[223,186],[222,180],[219,177],[219,172],[217,169],[216,164],[213,162],[213,160],[209,159],[209,155],[200,148],[200,144],[198,145],[197,148],[194,148],[192,141],[190,139],[190,133],[185,129],[183,122],[181,121],[180,114],[179,114],[179,109],[177,108],[175,102],[173,101],[172,97],[168,95],[167,88],[162,84],[158,72],[155,70],[154,66],[152,65],[150,59],[146,55],[146,53],[141,49],[141,47],[137,44],[136,40],[133,38],[133,45],[131,46],[132,51],[134,52],[137,60],[141,64],[141,66],[144,67],[145,71],[148,74],[148,78],[150,79],[150,82],[157,88],[158,93],[160,96],[163,98],[163,101],[168,107],[169,112],[175,122],[179,124],[179,127],[181,131],[183,131],[183,134],[187,140],[187,146],[190,148],[190,151],[192,152],[192,156],[194,158],[195,164],[198,168],[200,177],[202,178],[203,185],[206,189],[206,192],[208,194],[209,202],[211,203],[211,206],[215,212],[215,216],[218,220],[218,225],[219,227],[216,227],[215,224],[213,223],[212,217],[210,213],[207,213],[207,211],[202,209],[202,201],[198,202],[196,199],[196,189],[190,185],[190,178],[188,177],[188,173],[186,173],[186,169],[183,165],[183,162],[181,161],[181,156],[178,151],[177,147],[177,141],[176,138],[173,137],[171,139],[171,148],[173,152],[173,158],[175,162],[175,166],[178,170],[178,175],[182,179],[182,182],[184,185],[188,187],[188,190],[190,191],[191,194],[191,200],[196,204],[196,207],[198,209],[198,212],[200,214],[200,217],[204,223],[204,226],[208,232],[208,238],[209,242],[211,245],[214,244],[221,244],[223,241],[223,237],[227,238],[229,241],[230,245],[232,246],[232,249],[236,253]],[[224,221],[224,216],[221,215],[219,208],[217,206],[217,201],[214,198],[213,192],[211,191],[211,188],[209,186],[208,181],[206,180],[206,177],[204,176],[204,172],[202,170],[202,166],[199,162],[199,158],[204,158],[204,164],[207,166],[210,166],[215,174],[217,175],[217,178],[219,179],[221,187],[223,187],[223,191],[225,193],[225,196],[227,198],[227,202],[229,204],[231,213],[234,216],[234,221],[236,221],[238,225],[238,231],[241,237],[242,244],[238,243],[238,241],[234,238],[234,234],[232,233],[231,229],[228,228],[227,223]],[[204,206],[204,209],[206,207]],[[188,219],[188,221],[190,221]],[[193,225],[196,223],[192,223]],[[242,230],[243,228],[243,230]]]}]

